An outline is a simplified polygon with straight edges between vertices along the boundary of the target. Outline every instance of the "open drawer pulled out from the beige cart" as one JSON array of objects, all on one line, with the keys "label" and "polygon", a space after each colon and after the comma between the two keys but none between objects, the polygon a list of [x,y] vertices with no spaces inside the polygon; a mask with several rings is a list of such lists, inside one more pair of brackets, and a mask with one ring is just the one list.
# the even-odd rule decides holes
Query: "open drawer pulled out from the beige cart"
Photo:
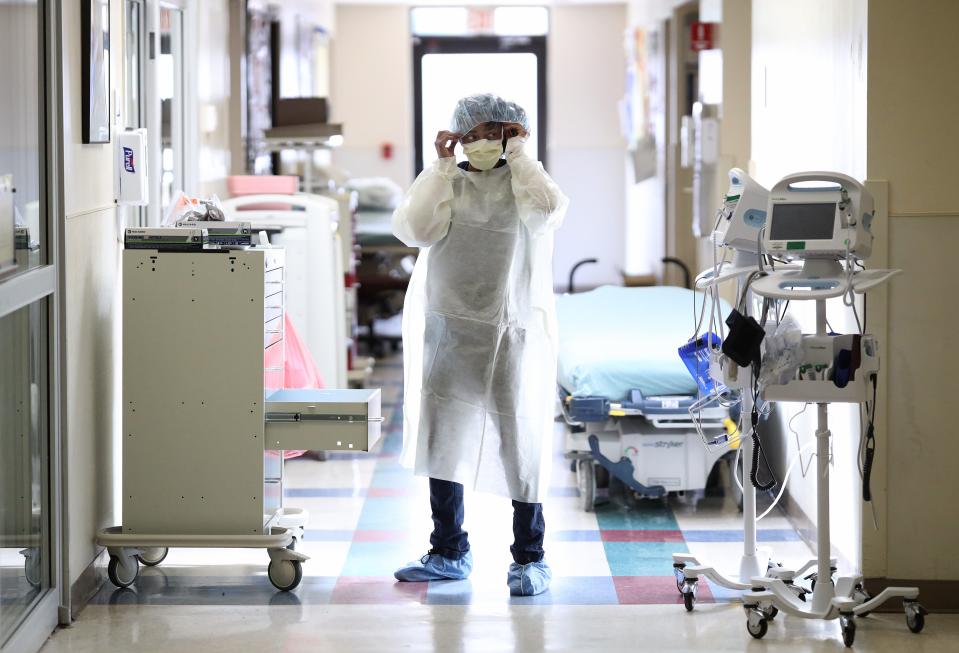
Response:
[{"label": "open drawer pulled out from the beige cart", "polygon": [[266,448],[369,451],[380,439],[380,391],[279,390],[266,399]]}]

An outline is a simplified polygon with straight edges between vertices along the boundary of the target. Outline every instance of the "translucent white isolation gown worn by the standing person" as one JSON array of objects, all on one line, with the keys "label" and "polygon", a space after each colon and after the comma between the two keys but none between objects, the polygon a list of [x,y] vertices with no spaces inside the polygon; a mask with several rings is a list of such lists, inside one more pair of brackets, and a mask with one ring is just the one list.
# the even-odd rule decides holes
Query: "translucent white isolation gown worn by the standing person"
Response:
[{"label": "translucent white isolation gown worn by the standing person", "polygon": [[537,503],[556,401],[553,231],[568,205],[543,166],[507,144],[485,172],[452,157],[393,214],[420,252],[403,311],[403,462],[415,473]]}]

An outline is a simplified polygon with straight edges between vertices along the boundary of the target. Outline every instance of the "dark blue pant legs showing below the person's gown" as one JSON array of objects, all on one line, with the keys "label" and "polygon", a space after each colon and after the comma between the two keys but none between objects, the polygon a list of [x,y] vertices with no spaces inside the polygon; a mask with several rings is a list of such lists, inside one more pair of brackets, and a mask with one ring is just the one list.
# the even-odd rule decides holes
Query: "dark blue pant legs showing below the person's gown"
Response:
[{"label": "dark blue pant legs showing below the person's gown", "polygon": [[[430,507],[433,509],[433,551],[444,558],[459,560],[470,550],[463,530],[463,486],[452,481],[430,479]],[[543,504],[513,502],[513,560],[526,565],[543,559],[546,522]]]}]

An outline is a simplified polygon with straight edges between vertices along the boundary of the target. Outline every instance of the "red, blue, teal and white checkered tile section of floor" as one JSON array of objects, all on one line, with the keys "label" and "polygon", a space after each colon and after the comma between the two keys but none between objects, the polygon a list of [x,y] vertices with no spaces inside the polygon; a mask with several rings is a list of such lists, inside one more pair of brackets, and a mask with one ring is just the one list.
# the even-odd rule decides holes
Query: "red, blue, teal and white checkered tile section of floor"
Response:
[{"label": "red, blue, teal and white checkered tile section of floor", "polygon": [[[397,583],[395,569],[429,549],[428,482],[400,465],[403,448],[402,366],[378,366],[372,385],[384,390],[382,437],[373,451],[335,452],[327,460],[304,456],[286,462],[285,502],[309,513],[297,550],[308,555],[304,580],[281,593],[266,577],[268,558],[258,549],[181,549],[161,567],[144,569],[130,590],[104,588],[100,604],[324,605],[427,603],[431,605],[681,604],[672,554],[691,552],[709,564],[735,565],[742,549],[742,515],[727,497],[687,493],[667,501],[631,501],[621,487],[599,493],[584,510],[576,475],[564,456],[565,430],[553,433],[556,456],[543,499],[549,591],[510,597],[512,506],[504,497],[467,488],[466,521],[474,556],[466,581]],[[768,502],[768,498],[761,497]],[[768,505],[768,504],[767,504]],[[759,540],[774,559],[809,557],[808,547],[777,513],[763,521]],[[729,601],[738,592],[702,582],[699,602]]]}]

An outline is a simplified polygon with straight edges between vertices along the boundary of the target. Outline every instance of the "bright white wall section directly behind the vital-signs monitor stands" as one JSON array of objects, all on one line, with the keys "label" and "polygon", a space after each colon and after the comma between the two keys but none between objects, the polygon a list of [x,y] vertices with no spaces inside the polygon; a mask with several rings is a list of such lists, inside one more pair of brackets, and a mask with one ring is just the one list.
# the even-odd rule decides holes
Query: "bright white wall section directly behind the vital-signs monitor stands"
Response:
[{"label": "bright white wall section directly behind the vital-signs monitor stands", "polygon": [[[836,170],[865,179],[867,0],[754,0],[752,11],[751,172],[757,181],[771,187],[784,175],[801,170]],[[794,302],[790,311],[809,331],[815,328],[815,313],[806,303],[810,305]],[[830,303],[828,312],[837,330],[855,329],[839,300]],[[777,406],[781,462],[796,450],[785,421],[801,407]],[[834,458],[832,541],[849,564],[859,567],[858,407],[834,405],[829,417]],[[813,407],[794,426],[801,442],[810,442],[815,432]],[[814,474],[802,478],[794,473],[789,494],[815,519]]]}]

